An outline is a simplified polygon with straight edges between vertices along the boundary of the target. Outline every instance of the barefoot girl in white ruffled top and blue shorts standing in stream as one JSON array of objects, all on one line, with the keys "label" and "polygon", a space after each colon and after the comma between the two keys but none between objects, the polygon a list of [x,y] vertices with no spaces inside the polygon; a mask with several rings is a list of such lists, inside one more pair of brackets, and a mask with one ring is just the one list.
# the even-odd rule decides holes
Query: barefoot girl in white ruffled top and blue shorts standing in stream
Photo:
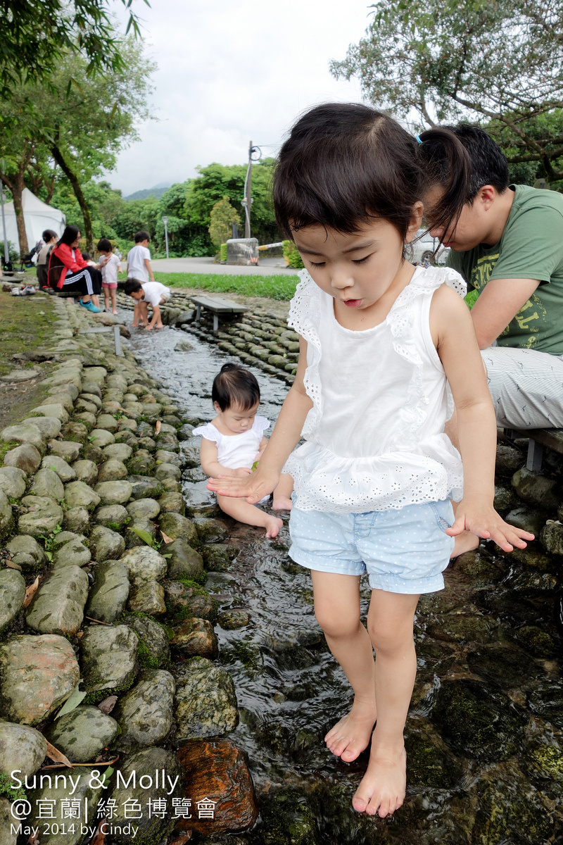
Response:
[{"label": "barefoot girl in white ruffled top and blue shorts standing in stream", "polygon": [[[447,196],[467,178],[462,167],[453,172]],[[300,363],[257,472],[209,482],[254,503],[282,467],[294,477],[290,557],[311,570],[317,621],[354,690],[325,740],[350,761],[371,739],[352,803],[382,817],[405,794],[420,594],[443,588],[454,537],[465,530],[506,552],[533,539],[493,509],[495,413],[463,281],[405,260],[422,193],[417,141],[382,112],[328,104],[295,124],[273,199],[306,266],[289,319]],[[461,458],[444,434],[448,382]],[[306,443],[291,454],[301,435]],[[450,497],[461,499],[455,519]]]}]

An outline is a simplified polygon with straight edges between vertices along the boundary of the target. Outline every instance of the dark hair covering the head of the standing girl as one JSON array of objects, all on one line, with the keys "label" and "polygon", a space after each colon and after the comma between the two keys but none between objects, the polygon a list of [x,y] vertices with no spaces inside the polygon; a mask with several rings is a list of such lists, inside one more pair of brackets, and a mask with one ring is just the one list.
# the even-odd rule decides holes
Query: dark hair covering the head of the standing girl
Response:
[{"label": "dark hair covering the head of the standing girl", "polygon": [[382,217],[404,241],[424,187],[417,146],[392,117],[370,106],[311,109],[279,152],[273,204],[280,229],[290,238],[315,224],[351,234]]}]

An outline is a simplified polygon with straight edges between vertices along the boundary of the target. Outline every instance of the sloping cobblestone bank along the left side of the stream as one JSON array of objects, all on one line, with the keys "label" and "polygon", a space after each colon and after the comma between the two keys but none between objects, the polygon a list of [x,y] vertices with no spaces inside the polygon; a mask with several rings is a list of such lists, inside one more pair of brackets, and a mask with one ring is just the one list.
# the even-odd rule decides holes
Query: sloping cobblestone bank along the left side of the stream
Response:
[{"label": "sloping cobblestone bank along the left side of the stream", "polygon": [[[256,799],[243,755],[220,740],[238,711],[203,587],[208,544],[228,532],[186,515],[189,415],[127,349],[116,356],[111,335],[83,334],[99,320],[68,300],[54,306],[48,398],[0,432],[0,775],[13,787],[13,771],[28,778],[22,836],[39,827],[40,845],[82,842],[104,816],[106,845],[165,842],[197,826],[198,801],[223,793],[236,800],[217,807],[213,830],[241,830]],[[51,746],[90,766],[69,769]],[[198,755],[212,762],[196,777]],[[72,793],[54,777],[69,774]],[[0,799],[3,845],[17,839],[17,793]],[[73,829],[69,798],[82,801]]]}]

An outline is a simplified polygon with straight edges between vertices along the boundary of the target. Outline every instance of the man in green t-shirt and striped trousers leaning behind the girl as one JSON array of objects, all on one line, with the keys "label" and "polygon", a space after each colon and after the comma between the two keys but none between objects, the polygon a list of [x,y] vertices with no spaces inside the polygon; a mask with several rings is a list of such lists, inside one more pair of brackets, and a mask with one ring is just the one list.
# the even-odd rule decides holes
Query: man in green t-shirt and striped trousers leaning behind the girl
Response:
[{"label": "man in green t-shirt and striped trousers leaning behind the girl", "polygon": [[[430,173],[430,234],[479,292],[471,316],[497,423],[563,428],[563,197],[509,185],[505,156],[477,126],[422,132],[419,155]],[[467,194],[446,195],[459,167]]]}]

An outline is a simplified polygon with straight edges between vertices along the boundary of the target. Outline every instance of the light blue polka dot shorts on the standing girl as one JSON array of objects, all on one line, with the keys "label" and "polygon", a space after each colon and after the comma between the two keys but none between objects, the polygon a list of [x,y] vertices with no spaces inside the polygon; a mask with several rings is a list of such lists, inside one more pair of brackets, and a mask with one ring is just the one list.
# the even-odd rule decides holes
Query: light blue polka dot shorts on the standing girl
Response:
[{"label": "light blue polka dot shorts on the standing girl", "polygon": [[290,558],[318,572],[369,576],[373,590],[409,595],[443,590],[442,572],[454,539],[452,504],[410,504],[401,510],[334,514],[298,510],[290,515]]}]

